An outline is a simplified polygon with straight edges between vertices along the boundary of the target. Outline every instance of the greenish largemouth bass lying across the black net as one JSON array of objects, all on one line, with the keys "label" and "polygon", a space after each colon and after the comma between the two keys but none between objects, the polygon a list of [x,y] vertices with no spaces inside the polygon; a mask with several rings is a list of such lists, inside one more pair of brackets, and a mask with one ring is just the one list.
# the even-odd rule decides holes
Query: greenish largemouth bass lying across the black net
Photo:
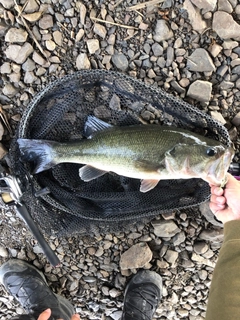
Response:
[{"label": "greenish largemouth bass lying across the black net", "polygon": [[18,144],[22,158],[34,161],[34,173],[63,162],[85,164],[79,170],[82,180],[111,171],[141,179],[141,192],[162,179],[201,178],[222,186],[234,155],[216,140],[176,127],[118,127],[89,116],[85,134],[88,139],[80,141],[18,139]]}]

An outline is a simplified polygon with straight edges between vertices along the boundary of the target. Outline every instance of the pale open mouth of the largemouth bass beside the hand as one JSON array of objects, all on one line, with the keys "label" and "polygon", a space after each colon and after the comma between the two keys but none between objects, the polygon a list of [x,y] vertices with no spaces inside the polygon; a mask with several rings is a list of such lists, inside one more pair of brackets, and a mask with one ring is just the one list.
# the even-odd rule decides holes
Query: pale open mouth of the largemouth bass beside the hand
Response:
[{"label": "pale open mouth of the largemouth bass beside the hand", "polygon": [[233,148],[227,148],[224,153],[214,161],[208,170],[207,180],[214,185],[222,186],[225,184],[227,171],[234,156]]}]

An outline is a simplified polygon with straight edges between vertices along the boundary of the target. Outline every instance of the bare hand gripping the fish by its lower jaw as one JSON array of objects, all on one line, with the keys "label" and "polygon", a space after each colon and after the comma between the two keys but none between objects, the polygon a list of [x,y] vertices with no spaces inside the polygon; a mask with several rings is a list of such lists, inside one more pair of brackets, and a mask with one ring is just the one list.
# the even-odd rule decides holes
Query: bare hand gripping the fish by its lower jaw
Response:
[{"label": "bare hand gripping the fish by its lower jaw", "polygon": [[219,221],[226,223],[240,220],[240,182],[231,174],[227,174],[227,184],[224,189],[210,185],[210,209]]}]

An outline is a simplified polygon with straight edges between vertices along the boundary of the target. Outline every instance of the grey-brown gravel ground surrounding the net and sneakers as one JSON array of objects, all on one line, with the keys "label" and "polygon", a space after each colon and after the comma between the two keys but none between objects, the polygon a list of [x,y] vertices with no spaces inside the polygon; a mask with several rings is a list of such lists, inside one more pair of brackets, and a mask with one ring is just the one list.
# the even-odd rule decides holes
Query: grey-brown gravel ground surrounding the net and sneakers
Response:
[{"label": "grey-brown gravel ground surrounding the net and sneakers", "polygon": [[[17,4],[18,3],[18,4]],[[0,103],[13,134],[25,107],[52,80],[80,69],[117,70],[197,106],[229,130],[239,160],[240,5],[237,0],[0,0]],[[0,122],[0,155],[12,133]],[[129,232],[48,238],[52,268],[24,223],[0,213],[0,262],[44,271],[81,319],[121,317],[138,268],[163,277],[157,319],[204,319],[223,239],[208,204],[156,217]],[[134,257],[134,258],[133,258]],[[0,287],[0,319],[24,311]]]}]

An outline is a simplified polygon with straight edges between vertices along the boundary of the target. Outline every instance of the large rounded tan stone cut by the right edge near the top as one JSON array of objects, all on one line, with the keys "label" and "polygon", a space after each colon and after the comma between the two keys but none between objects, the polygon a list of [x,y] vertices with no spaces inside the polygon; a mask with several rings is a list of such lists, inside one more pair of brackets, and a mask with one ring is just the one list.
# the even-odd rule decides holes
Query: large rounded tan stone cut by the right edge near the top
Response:
[{"label": "large rounded tan stone cut by the right edge near the top", "polygon": [[212,29],[222,39],[240,40],[240,25],[227,12],[217,11],[214,13]]}]

